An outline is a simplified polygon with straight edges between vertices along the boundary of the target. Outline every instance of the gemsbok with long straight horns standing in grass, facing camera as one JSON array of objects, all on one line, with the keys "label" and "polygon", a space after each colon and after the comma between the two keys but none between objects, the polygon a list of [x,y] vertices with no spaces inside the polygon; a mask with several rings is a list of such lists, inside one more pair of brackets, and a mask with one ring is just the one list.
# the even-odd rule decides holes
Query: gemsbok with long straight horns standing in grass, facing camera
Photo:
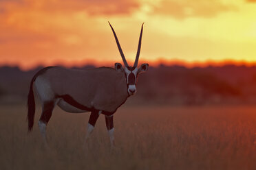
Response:
[{"label": "gemsbok with long straight horns standing in grass, facing camera", "polygon": [[[144,24],[144,23],[143,23]],[[39,120],[39,130],[46,140],[46,126],[54,107],[58,105],[62,110],[72,113],[91,112],[87,125],[87,141],[94,130],[100,114],[105,115],[106,126],[111,146],[114,145],[113,115],[125,103],[128,97],[136,93],[138,74],[147,71],[149,64],[142,64],[138,69],[141,39],[141,26],[138,50],[134,66],[129,66],[122,52],[116,33],[109,23],[118,46],[122,64],[116,63],[115,69],[100,67],[96,69],[66,69],[58,66],[48,66],[37,72],[30,82],[28,93],[28,132],[34,124],[35,101],[33,86],[39,95],[42,113]]]}]

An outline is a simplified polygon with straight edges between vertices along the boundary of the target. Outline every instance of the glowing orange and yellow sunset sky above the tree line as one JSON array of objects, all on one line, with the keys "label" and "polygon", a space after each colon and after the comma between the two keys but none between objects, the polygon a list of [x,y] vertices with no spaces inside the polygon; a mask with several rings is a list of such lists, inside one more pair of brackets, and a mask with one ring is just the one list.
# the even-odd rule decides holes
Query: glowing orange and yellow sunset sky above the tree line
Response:
[{"label": "glowing orange and yellow sunset sky above the tree line", "polygon": [[[0,0],[0,65],[256,62],[256,0]],[[132,63],[131,63],[132,64]]]}]

